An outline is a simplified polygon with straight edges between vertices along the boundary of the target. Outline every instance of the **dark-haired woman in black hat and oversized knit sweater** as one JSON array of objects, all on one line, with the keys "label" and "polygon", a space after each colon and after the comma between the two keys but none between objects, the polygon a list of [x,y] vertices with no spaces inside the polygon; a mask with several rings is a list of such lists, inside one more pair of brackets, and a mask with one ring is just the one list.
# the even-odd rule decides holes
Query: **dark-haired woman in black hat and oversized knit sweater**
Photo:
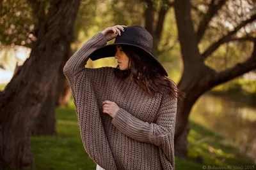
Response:
[{"label": "dark-haired woman in black hat and oversized knit sweater", "polygon": [[[113,38],[115,43],[106,45]],[[152,46],[151,34],[139,25],[107,27],[86,41],[63,69],[84,149],[97,169],[175,169],[173,139],[181,93],[165,77]],[[117,67],[84,67],[89,58],[114,56]]]}]

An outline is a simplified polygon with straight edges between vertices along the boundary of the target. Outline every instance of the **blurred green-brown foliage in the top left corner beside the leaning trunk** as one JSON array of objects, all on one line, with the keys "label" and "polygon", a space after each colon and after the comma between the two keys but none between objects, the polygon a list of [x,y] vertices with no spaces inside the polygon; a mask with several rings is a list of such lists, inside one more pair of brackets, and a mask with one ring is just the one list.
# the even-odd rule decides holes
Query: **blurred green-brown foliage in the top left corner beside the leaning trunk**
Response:
[{"label": "blurred green-brown foliage in the top left corner beside the leaning trunk", "polygon": [[30,32],[34,31],[36,19],[33,9],[25,0],[10,0],[1,3],[0,42],[2,45],[29,45]]}]

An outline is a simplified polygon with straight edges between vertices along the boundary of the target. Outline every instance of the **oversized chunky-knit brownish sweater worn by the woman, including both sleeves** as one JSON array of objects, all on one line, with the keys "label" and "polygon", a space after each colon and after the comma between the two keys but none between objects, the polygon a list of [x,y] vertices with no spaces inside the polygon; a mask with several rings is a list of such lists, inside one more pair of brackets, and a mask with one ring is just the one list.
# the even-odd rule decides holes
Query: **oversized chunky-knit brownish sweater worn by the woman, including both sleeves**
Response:
[{"label": "oversized chunky-knit brownish sweater worn by the woman, including both sleeves", "polygon": [[[175,169],[173,136],[177,98],[148,96],[132,79],[116,78],[114,67],[86,68],[89,55],[107,44],[97,32],[67,61],[63,72],[72,89],[83,146],[106,170]],[[120,109],[114,118],[103,101]]]}]

